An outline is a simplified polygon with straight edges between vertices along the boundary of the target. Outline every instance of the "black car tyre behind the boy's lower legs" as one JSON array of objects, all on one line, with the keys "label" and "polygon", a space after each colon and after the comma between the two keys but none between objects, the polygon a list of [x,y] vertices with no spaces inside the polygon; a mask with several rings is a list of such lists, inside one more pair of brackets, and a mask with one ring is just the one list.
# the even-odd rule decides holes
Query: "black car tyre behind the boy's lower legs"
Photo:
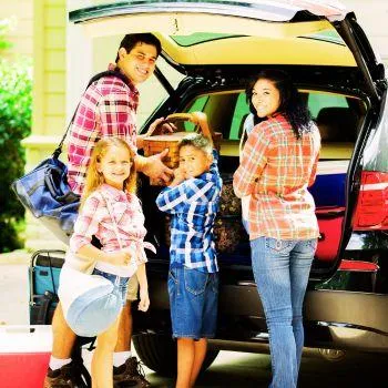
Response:
[{"label": "black car tyre behind the boy's lower legs", "polygon": [[[176,341],[169,335],[139,334],[132,337],[142,363],[162,376],[176,375]],[[207,350],[202,371],[206,370],[219,350]]]}]

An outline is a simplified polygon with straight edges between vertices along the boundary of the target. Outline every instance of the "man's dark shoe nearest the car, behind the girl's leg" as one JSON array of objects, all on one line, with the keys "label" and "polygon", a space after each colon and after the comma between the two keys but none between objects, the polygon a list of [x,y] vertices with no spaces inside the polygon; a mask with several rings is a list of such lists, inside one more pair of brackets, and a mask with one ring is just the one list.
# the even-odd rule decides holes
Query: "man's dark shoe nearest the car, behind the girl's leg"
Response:
[{"label": "man's dark shoe nearest the car, behind the girl's leg", "polygon": [[120,367],[113,367],[114,388],[137,387],[147,388],[151,384],[145,379],[145,374],[136,357],[130,357]]}]

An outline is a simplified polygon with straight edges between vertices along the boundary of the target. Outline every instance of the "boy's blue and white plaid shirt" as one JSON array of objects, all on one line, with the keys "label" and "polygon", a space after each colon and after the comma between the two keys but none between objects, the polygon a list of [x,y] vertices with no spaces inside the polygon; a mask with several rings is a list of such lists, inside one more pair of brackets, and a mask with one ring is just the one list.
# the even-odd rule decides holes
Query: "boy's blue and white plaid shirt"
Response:
[{"label": "boy's blue and white plaid shirt", "polygon": [[172,267],[185,266],[204,273],[218,270],[213,238],[222,187],[217,159],[217,152],[213,151],[208,172],[164,188],[156,198],[157,207],[172,215]]}]

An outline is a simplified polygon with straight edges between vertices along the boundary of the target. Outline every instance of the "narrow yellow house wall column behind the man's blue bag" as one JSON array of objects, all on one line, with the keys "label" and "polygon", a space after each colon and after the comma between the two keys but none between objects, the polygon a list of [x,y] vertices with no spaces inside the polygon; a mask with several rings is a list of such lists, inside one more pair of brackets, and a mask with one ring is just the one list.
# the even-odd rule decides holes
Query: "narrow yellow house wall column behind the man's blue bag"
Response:
[{"label": "narrow yellow house wall column behind the man's blue bag", "polygon": [[[65,125],[65,0],[33,2],[32,134],[23,141],[25,170],[50,155]],[[53,235],[27,214],[25,247],[58,248]]]}]

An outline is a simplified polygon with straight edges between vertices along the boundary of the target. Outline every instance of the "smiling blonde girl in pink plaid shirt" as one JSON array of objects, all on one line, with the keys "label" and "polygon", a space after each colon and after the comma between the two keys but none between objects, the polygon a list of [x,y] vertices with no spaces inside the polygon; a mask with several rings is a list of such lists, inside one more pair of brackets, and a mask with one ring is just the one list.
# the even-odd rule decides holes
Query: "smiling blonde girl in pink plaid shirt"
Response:
[{"label": "smiling blonde girl in pink plaid shirt", "polygon": [[[68,255],[67,265],[104,276],[112,283],[119,282],[123,303],[127,280],[136,274],[140,283],[139,309],[146,312],[150,298],[144,248],[154,251],[154,247],[143,241],[146,229],[135,188],[134,153],[127,143],[118,137],[100,140],[88,169],[81,208],[70,239],[72,255]],[[91,244],[93,235],[100,239],[101,249]],[[113,386],[112,358],[119,320],[120,316],[98,336],[92,360],[93,387]]]}]

